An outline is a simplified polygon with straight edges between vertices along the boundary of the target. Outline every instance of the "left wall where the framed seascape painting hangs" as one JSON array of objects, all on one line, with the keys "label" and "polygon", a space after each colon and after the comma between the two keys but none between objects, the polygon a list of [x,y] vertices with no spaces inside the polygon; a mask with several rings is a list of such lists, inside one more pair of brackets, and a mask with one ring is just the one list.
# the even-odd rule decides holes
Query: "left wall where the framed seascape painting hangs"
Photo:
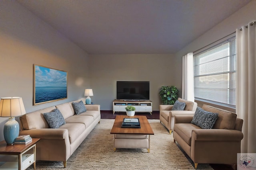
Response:
[{"label": "left wall where the framed seascape painting hangs", "polygon": [[[68,72],[68,98],[33,106],[33,64]],[[20,96],[26,112],[84,98],[88,55],[16,1],[0,2],[0,97]],[[0,141],[8,118],[0,117]]]}]

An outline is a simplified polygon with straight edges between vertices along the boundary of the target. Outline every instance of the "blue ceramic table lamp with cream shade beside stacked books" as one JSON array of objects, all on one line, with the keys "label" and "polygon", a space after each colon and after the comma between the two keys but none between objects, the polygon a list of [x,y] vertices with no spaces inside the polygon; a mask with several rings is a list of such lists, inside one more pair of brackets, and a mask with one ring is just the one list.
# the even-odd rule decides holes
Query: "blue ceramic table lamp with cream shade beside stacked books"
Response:
[{"label": "blue ceramic table lamp with cream shade beside stacked books", "polygon": [[9,117],[4,124],[4,140],[7,145],[14,145],[14,140],[19,136],[20,126],[15,117],[24,114],[26,111],[21,97],[1,98],[0,117]]}]

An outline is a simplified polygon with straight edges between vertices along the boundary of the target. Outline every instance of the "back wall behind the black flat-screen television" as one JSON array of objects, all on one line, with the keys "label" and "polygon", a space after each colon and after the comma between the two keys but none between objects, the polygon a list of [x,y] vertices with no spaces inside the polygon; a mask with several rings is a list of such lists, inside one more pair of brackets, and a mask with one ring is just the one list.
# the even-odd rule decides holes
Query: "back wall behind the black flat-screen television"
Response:
[{"label": "back wall behind the black flat-screen television", "polygon": [[150,81],[153,110],[159,110],[161,86],[176,86],[173,55],[90,55],[92,102],[102,110],[112,110],[116,99],[116,81]]}]

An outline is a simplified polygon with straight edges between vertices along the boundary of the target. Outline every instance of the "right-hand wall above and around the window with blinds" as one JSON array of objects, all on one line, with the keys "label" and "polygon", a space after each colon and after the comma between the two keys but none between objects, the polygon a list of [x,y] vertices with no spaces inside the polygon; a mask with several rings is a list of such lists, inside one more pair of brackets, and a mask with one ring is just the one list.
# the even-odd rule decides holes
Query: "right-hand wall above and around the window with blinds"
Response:
[{"label": "right-hand wall above and around the window with blinds", "polygon": [[[241,28],[243,25],[248,25],[249,22],[256,20],[256,0],[252,0],[249,4],[220,22],[218,25],[189,43],[186,47],[180,50],[175,54],[174,61],[176,62],[177,76],[174,79],[174,82],[177,84],[178,88],[182,88],[182,56],[186,55],[189,52],[197,51],[198,49],[205,47],[223,37],[233,33],[236,29]],[[214,16],[213,16],[214,17]],[[200,27],[200,25],[198,25]],[[202,103],[198,103],[199,106],[202,106]],[[228,109],[228,108],[224,108]],[[234,111],[234,109],[229,109]]]}]

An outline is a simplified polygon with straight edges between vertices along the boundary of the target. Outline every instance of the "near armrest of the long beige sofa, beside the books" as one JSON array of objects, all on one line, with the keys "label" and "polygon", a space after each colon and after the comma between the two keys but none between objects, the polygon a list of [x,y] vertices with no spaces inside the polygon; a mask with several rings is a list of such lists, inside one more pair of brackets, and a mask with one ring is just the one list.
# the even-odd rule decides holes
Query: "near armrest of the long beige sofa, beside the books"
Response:
[{"label": "near armrest of the long beige sofa, beside the books", "polygon": [[30,129],[22,130],[19,135],[30,135],[40,139],[68,139],[68,129]]}]

